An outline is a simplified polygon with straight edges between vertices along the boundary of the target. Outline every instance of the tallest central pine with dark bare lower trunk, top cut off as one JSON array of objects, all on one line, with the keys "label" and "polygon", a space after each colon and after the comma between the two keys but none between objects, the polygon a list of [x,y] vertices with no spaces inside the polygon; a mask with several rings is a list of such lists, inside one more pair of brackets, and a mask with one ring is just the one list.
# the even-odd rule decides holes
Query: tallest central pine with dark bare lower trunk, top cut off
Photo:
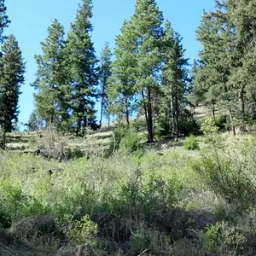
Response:
[{"label": "tallest central pine with dark bare lower trunk, top cut off", "polygon": [[163,35],[163,15],[155,0],[137,0],[131,18],[136,44],[136,89],[146,119],[148,143],[154,141],[154,96],[159,94],[160,38]]}]

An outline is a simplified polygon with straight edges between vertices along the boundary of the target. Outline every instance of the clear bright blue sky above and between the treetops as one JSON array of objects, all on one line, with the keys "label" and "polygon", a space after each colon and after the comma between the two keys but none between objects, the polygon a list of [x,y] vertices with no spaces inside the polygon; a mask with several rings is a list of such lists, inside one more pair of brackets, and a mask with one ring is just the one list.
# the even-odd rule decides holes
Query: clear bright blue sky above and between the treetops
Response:
[{"label": "clear bright blue sky above and between the treetops", "polygon": [[[66,32],[73,22],[78,4],[82,0],[6,0],[7,14],[12,23],[5,30],[18,39],[26,61],[26,82],[21,87],[19,121],[26,123],[34,109],[33,89],[30,86],[36,73],[34,55],[41,53],[40,42],[47,37],[47,28],[57,18]],[[200,24],[203,9],[214,7],[213,0],[157,0],[165,19],[172,22],[173,28],[183,37],[186,57],[197,58],[200,44],[196,41],[195,30]],[[136,0],[94,0],[92,39],[97,55],[102,45],[108,41],[114,47],[115,36],[119,34],[124,20],[130,19]]]}]

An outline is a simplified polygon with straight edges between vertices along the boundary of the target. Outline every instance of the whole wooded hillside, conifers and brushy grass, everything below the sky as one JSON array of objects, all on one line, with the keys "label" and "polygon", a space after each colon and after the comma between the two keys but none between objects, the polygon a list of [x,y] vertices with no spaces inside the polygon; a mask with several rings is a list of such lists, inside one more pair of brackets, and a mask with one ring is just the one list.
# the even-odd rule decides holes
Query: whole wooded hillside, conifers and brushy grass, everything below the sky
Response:
[{"label": "whole wooded hillside, conifers and brushy grass, everything below the sky", "polygon": [[20,131],[0,0],[0,255],[255,256],[256,0],[203,11],[196,60],[156,0],[100,55],[92,18],[52,21]]}]

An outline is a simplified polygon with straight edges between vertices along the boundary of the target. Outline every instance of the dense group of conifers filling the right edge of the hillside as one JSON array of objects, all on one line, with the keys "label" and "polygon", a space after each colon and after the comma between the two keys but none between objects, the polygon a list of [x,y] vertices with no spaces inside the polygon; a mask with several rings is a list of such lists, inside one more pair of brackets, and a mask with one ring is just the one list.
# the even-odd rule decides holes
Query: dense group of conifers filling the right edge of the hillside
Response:
[{"label": "dense group of conifers filling the right edge of the hillside", "polygon": [[200,60],[195,61],[195,86],[190,102],[207,105],[215,118],[224,113],[236,134],[256,118],[256,1],[216,1],[204,13],[197,38]]}]

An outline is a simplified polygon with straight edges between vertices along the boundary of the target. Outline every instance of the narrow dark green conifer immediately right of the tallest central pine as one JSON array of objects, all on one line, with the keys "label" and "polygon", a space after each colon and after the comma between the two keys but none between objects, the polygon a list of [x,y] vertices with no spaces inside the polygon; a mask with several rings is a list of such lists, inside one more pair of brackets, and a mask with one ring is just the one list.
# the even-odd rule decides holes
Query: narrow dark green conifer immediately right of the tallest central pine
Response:
[{"label": "narrow dark green conifer immediately right of the tallest central pine", "polygon": [[182,39],[174,32],[169,21],[166,22],[162,55],[162,97],[161,113],[165,122],[169,124],[167,130],[172,137],[178,139],[180,133],[180,116],[184,108],[184,96],[187,86],[188,59],[184,58]]}]

